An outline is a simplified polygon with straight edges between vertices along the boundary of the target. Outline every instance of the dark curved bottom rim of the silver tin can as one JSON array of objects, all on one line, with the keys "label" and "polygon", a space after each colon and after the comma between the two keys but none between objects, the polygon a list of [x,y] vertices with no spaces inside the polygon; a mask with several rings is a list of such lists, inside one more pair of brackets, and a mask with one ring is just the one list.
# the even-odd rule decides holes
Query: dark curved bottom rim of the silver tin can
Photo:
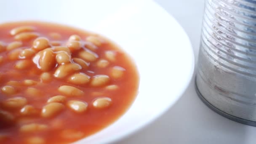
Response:
[{"label": "dark curved bottom rim of the silver tin can", "polygon": [[217,107],[213,106],[209,101],[207,101],[204,96],[200,93],[198,87],[197,87],[197,76],[195,76],[195,91],[197,92],[197,96],[201,99],[201,101],[203,101],[203,103],[209,107],[211,110],[213,110],[213,112],[216,112],[217,114],[223,116],[223,117],[226,117],[227,119],[229,120],[233,120],[237,123],[242,123],[242,124],[245,124],[245,125],[251,125],[251,126],[256,126],[256,122],[255,121],[251,121],[251,120],[245,120],[243,118],[240,118],[240,117],[236,117],[236,116],[233,116],[233,115],[230,115],[226,112],[223,112],[221,111],[220,109],[218,109]]}]

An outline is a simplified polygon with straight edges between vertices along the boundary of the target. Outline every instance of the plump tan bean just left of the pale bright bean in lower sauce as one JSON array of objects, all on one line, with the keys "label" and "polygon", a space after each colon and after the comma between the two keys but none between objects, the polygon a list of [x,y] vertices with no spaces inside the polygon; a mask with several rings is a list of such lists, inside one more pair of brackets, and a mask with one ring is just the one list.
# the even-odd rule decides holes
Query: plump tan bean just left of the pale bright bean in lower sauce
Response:
[{"label": "plump tan bean just left of the pale bright bean in lower sauce", "polygon": [[52,102],[47,105],[45,105],[42,109],[41,116],[42,117],[53,117],[54,115],[57,115],[59,112],[61,112],[64,109],[64,105]]}]

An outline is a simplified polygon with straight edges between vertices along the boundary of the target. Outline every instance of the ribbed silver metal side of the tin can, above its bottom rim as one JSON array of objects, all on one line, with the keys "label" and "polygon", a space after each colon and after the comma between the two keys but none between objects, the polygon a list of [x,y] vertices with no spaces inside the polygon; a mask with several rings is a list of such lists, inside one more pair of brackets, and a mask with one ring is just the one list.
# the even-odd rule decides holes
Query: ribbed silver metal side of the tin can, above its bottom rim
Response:
[{"label": "ribbed silver metal side of the tin can, above its bottom rim", "polygon": [[196,83],[213,107],[256,124],[256,0],[205,0]]}]

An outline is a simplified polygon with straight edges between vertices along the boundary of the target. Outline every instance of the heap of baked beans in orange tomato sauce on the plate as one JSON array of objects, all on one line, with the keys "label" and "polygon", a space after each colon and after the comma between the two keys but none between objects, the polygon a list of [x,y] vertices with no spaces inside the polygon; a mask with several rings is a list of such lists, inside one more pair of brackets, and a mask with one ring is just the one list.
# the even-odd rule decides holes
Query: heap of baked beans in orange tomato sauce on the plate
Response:
[{"label": "heap of baked beans in orange tomato sauce on the plate", "polygon": [[[58,117],[79,118],[115,107],[119,98],[113,93],[122,93],[120,87],[126,86],[121,82],[127,69],[118,59],[122,52],[104,49],[109,41],[99,35],[73,34],[66,39],[58,32],[47,31],[46,35],[46,30],[41,31],[22,25],[9,31],[9,41],[0,37],[0,128],[16,128],[29,144],[54,143],[49,136],[33,133],[55,128],[66,140],[81,139],[88,134],[65,128]],[[131,84],[135,85],[133,93],[136,82]],[[0,143],[11,142],[10,136],[0,130]]]}]

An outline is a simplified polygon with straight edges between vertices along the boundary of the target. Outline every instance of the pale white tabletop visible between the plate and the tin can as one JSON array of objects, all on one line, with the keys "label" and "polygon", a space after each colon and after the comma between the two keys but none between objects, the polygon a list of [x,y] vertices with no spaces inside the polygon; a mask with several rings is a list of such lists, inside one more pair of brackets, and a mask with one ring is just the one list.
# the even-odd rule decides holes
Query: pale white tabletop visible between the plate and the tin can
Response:
[{"label": "pale white tabletop visible between the plate and the tin can", "polygon": [[[197,61],[204,0],[155,1],[185,29]],[[256,144],[256,127],[236,123],[213,112],[197,97],[194,83],[195,76],[187,91],[168,112],[117,143]]]}]

